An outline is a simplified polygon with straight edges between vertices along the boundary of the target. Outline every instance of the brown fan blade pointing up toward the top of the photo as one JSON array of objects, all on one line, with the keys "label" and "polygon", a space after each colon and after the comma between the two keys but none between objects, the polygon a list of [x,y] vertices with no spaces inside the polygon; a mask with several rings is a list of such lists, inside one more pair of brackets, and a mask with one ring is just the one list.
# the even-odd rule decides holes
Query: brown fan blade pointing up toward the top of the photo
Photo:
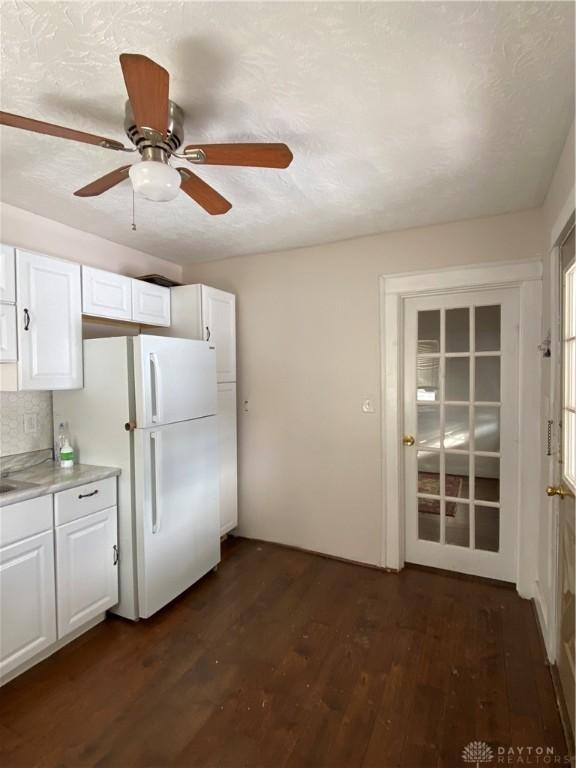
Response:
[{"label": "brown fan blade pointing up toward the top of the photo", "polygon": [[166,134],[170,75],[159,64],[139,53],[120,54],[128,98],[140,130],[151,128]]}]

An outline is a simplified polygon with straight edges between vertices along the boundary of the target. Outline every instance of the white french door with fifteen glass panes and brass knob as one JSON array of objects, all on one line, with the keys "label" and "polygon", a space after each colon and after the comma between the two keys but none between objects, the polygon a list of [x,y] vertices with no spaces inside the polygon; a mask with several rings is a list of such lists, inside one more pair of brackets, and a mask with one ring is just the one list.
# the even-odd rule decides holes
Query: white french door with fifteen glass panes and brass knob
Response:
[{"label": "white french door with fifteen glass panes and brass knob", "polygon": [[516,580],[518,291],[404,303],[406,561]]}]

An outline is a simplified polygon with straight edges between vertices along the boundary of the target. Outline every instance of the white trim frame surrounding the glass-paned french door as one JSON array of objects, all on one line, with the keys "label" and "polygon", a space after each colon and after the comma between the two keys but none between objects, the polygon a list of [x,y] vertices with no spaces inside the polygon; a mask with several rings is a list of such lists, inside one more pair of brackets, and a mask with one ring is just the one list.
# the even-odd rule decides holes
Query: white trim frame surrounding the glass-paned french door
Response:
[{"label": "white trim frame surrounding the glass-paned french door", "polygon": [[382,397],[384,568],[404,567],[403,422],[403,306],[412,296],[480,288],[519,288],[518,380],[518,515],[516,587],[523,597],[534,596],[537,578],[538,520],[541,510],[540,386],[538,350],[542,314],[542,262],[511,261],[476,264],[380,277],[380,341]]}]

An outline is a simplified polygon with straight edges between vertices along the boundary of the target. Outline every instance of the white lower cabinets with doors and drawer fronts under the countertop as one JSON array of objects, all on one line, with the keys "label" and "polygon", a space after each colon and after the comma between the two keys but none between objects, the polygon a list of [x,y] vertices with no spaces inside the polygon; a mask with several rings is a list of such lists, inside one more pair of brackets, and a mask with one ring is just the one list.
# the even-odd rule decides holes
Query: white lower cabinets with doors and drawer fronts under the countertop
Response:
[{"label": "white lower cabinets with doors and drawer fronts under the countertop", "polygon": [[116,478],[0,507],[0,684],[118,602]]}]

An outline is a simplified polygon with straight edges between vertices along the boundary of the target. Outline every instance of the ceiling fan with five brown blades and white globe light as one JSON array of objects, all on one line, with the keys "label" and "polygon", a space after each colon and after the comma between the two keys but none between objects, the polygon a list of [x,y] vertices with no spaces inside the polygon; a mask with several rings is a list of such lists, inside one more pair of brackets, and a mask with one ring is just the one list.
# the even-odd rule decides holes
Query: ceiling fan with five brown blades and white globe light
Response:
[{"label": "ceiling fan with five brown blades and white globe light", "polygon": [[183,138],[184,113],[168,98],[168,72],[138,53],[120,55],[128,92],[124,129],[133,147],[52,123],[44,123],[9,112],[0,112],[0,125],[59,136],[119,152],[139,152],[134,165],[123,165],[74,192],[78,197],[101,195],[130,178],[134,191],[155,202],[173,200],[185,192],[210,214],[226,213],[232,207],[222,195],[189,168],[174,168],[172,157],[199,165],[235,165],[258,168],[287,168],[292,153],[286,144],[189,144],[179,153]]}]

